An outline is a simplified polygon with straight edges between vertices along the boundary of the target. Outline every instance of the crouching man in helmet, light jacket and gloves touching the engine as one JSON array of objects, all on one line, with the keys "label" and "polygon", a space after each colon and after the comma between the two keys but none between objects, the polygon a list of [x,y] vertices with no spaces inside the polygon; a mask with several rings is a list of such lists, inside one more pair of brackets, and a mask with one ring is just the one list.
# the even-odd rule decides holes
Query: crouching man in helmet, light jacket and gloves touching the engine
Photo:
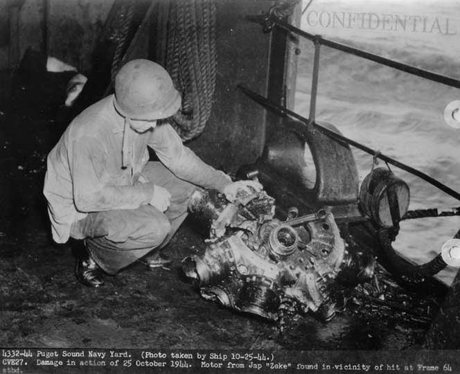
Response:
[{"label": "crouching man in helmet, light jacket and gloves touching the engine", "polygon": [[[76,276],[91,287],[143,258],[150,267],[187,215],[196,186],[230,201],[254,181],[232,182],[182,144],[168,123],[179,92],[159,64],[133,60],[116,75],[115,94],[78,115],[48,154],[44,195],[53,239],[85,241]],[[148,161],[150,146],[160,161]]]}]

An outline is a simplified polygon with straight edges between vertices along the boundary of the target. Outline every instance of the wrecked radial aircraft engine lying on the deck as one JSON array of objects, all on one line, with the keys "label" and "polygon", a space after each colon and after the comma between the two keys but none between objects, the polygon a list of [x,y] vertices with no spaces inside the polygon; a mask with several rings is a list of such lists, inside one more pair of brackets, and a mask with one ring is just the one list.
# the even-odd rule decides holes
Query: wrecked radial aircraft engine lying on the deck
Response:
[{"label": "wrecked radial aircraft engine lying on the deck", "polygon": [[274,199],[264,191],[232,204],[205,190],[193,195],[189,211],[210,234],[204,251],[183,260],[204,299],[272,320],[286,310],[329,320],[343,306],[331,293],[353,261],[329,211],[291,226],[274,217]]}]

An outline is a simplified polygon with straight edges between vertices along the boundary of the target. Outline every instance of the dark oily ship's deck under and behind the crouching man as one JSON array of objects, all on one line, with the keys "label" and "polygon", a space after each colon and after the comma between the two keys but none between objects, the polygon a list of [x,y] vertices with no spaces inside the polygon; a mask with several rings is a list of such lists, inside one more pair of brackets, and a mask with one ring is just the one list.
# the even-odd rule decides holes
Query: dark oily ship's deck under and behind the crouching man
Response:
[{"label": "dark oily ship's deck under and behind the crouching man", "polygon": [[170,270],[136,262],[107,276],[105,287],[80,285],[70,247],[51,240],[42,195],[58,126],[21,110],[0,113],[0,346],[335,350],[421,342],[426,325],[357,305],[329,323],[302,317],[281,332],[276,323],[204,301],[179,267],[202,245],[188,224],[168,246]]}]

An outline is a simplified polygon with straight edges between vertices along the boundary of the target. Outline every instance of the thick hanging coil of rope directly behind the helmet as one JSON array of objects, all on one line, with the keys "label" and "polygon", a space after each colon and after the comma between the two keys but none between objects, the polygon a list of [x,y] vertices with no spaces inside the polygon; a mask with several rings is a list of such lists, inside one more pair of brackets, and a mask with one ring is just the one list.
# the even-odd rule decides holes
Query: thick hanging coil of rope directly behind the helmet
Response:
[{"label": "thick hanging coil of rope directly behind the helmet", "polygon": [[211,115],[215,91],[215,1],[171,3],[166,70],[182,94],[182,109],[168,122],[183,141],[200,135]]}]

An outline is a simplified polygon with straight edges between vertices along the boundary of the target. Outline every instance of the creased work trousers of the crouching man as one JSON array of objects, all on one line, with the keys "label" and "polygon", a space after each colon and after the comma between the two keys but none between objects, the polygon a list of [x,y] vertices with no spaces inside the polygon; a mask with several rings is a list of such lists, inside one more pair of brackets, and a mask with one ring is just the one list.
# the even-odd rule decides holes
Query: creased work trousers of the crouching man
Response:
[{"label": "creased work trousers of the crouching man", "polygon": [[171,194],[164,213],[146,204],[88,213],[71,226],[71,237],[85,238],[91,257],[107,274],[116,274],[152,249],[164,247],[186,218],[195,185],[177,178],[158,161],[148,162],[142,175]]}]

